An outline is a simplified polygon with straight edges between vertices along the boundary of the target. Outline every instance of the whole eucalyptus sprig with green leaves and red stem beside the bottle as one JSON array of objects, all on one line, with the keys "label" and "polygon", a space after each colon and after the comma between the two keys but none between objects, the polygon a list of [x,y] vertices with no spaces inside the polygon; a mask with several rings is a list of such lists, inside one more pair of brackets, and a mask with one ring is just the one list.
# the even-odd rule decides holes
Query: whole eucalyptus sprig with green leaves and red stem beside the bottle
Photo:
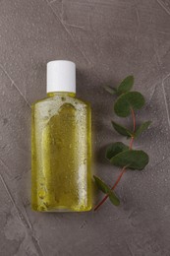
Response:
[{"label": "whole eucalyptus sprig with green leaves and red stem beside the bottle", "polygon": [[[126,117],[129,114],[132,114],[133,130],[130,131],[126,127],[112,121],[113,128],[119,134],[127,136],[127,138],[131,138],[131,141],[129,147],[123,143],[118,142],[107,148],[106,159],[110,160],[111,163],[116,166],[123,166],[123,168],[112,188],[109,188],[100,178],[94,176],[94,180],[98,189],[106,194],[106,196],[95,206],[94,211],[96,211],[107,200],[107,198],[110,199],[112,204],[118,206],[120,201],[113,190],[119,184],[127,168],[142,170],[148,163],[148,156],[146,153],[143,151],[133,150],[133,143],[135,138],[137,138],[151,123],[150,121],[144,122],[136,130],[136,116],[134,109],[137,110],[143,106],[144,98],[138,92],[129,92],[133,85],[134,77],[129,76],[122,81],[118,88],[106,88],[106,91],[108,91],[110,94],[118,96],[118,99],[114,105],[115,113],[122,117]],[[123,162],[126,164],[123,165]]]}]

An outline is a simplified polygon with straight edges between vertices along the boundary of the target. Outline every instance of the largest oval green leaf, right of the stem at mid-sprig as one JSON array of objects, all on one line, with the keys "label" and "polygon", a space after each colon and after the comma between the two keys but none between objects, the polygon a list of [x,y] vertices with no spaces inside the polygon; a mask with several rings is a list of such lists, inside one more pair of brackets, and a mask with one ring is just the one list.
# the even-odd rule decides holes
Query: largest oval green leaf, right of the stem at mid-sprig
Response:
[{"label": "largest oval green leaf, right of the stem at mid-sprig", "polygon": [[116,155],[110,161],[116,166],[142,170],[148,163],[148,156],[143,151],[128,150]]}]

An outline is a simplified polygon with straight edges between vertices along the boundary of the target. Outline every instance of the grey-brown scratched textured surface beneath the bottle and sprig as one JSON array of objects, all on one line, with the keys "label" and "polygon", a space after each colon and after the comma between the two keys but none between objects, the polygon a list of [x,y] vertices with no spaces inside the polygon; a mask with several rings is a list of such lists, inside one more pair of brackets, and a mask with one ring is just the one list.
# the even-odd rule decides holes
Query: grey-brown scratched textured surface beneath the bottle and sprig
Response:
[{"label": "grey-brown scratched textured surface beneath the bottle and sprig", "polygon": [[[150,163],[128,171],[116,189],[122,204],[96,213],[30,210],[30,104],[45,96],[45,64],[70,59],[78,96],[93,113],[94,171],[110,185],[119,174],[103,147],[112,96],[102,85],[129,74],[146,99],[139,120],[152,120],[135,144]],[[0,255],[170,255],[169,0],[0,1]],[[123,140],[124,141],[124,140]]]}]

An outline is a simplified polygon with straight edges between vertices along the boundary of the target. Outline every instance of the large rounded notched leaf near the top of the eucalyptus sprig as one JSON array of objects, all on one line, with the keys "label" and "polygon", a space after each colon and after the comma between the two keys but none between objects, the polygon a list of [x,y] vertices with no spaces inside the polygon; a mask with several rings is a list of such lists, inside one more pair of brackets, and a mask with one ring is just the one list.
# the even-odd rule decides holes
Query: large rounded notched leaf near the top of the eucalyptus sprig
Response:
[{"label": "large rounded notched leaf near the top of the eucalyptus sprig", "polygon": [[114,104],[115,113],[121,117],[127,117],[131,114],[131,108],[134,110],[142,108],[144,97],[138,92],[129,92],[117,98]]}]

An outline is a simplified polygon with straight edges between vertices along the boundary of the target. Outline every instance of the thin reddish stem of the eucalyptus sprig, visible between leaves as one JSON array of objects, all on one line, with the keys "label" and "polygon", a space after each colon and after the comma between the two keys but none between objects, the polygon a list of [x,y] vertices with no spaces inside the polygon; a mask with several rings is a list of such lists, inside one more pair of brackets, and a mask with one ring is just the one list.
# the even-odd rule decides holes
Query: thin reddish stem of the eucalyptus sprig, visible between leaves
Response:
[{"label": "thin reddish stem of the eucalyptus sprig, visible between leaves", "polygon": [[[136,131],[136,116],[135,116],[135,112],[134,112],[134,109],[133,109],[133,108],[131,108],[131,113],[132,113],[132,118],[133,118],[133,132],[135,133],[135,131]],[[134,136],[131,137],[130,147],[129,147],[130,150],[132,150],[132,148],[133,148],[133,143],[134,143]],[[119,184],[119,181],[121,180],[123,174],[124,174],[125,171],[126,171],[126,167],[127,167],[127,166],[124,166],[124,167],[122,168],[122,171],[121,171],[120,175],[118,176],[118,178],[117,178],[115,184],[114,184],[113,187],[111,188],[111,190],[114,190],[114,189],[116,188],[116,186]],[[98,203],[98,205],[95,206],[94,211],[96,211],[96,210],[107,200],[108,197],[109,197],[109,196],[106,195],[106,196]]]}]

